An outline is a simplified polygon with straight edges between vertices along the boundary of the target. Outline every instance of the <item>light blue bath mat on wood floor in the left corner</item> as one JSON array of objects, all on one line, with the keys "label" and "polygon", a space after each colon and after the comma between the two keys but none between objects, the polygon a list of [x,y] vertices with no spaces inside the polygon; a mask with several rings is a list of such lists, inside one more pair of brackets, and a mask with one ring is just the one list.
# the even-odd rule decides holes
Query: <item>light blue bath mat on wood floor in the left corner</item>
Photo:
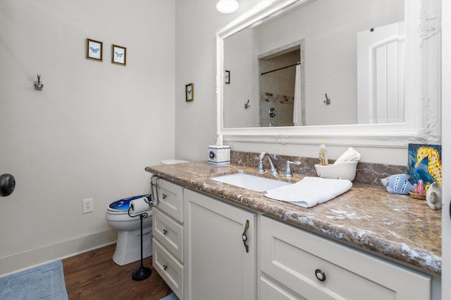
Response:
[{"label": "light blue bath mat on wood floor in the left corner", "polygon": [[67,300],[63,263],[54,261],[0,278],[0,299]]}]

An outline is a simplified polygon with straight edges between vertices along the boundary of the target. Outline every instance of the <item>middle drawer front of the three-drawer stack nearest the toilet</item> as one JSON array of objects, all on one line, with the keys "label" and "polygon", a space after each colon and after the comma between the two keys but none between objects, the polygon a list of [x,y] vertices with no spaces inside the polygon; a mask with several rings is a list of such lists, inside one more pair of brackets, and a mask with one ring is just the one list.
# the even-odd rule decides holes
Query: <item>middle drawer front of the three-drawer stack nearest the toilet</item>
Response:
[{"label": "middle drawer front of the three-drawer stack nearest the toilet", "polygon": [[154,209],[152,221],[154,238],[183,263],[183,226],[163,214],[158,208]]}]

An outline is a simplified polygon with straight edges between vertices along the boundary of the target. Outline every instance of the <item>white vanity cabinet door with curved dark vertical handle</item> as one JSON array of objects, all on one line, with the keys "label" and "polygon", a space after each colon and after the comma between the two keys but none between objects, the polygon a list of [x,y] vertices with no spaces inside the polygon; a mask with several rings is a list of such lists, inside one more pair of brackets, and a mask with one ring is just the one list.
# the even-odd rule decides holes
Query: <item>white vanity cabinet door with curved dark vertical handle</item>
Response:
[{"label": "white vanity cabinet door with curved dark vertical handle", "polygon": [[185,204],[185,299],[255,299],[256,215],[191,190]]}]

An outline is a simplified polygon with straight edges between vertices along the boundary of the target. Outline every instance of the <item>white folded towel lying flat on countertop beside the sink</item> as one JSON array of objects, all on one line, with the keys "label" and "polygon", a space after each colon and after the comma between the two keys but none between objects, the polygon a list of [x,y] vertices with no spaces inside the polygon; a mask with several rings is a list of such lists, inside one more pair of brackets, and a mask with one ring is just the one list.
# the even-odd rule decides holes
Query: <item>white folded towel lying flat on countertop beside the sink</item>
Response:
[{"label": "white folded towel lying flat on countertop beside the sink", "polygon": [[305,177],[297,183],[268,190],[265,196],[301,207],[314,207],[316,204],[332,200],[350,188],[352,182],[347,179]]}]

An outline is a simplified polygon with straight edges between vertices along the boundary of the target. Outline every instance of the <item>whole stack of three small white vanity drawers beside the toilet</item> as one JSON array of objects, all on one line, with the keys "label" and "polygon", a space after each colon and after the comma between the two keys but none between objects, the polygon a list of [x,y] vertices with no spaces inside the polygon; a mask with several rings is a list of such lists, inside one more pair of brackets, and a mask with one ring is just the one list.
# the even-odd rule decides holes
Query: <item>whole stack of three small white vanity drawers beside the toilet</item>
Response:
[{"label": "whole stack of three small white vanity drawers beside the toilet", "polygon": [[183,187],[157,179],[159,204],[152,214],[153,266],[183,299]]}]

